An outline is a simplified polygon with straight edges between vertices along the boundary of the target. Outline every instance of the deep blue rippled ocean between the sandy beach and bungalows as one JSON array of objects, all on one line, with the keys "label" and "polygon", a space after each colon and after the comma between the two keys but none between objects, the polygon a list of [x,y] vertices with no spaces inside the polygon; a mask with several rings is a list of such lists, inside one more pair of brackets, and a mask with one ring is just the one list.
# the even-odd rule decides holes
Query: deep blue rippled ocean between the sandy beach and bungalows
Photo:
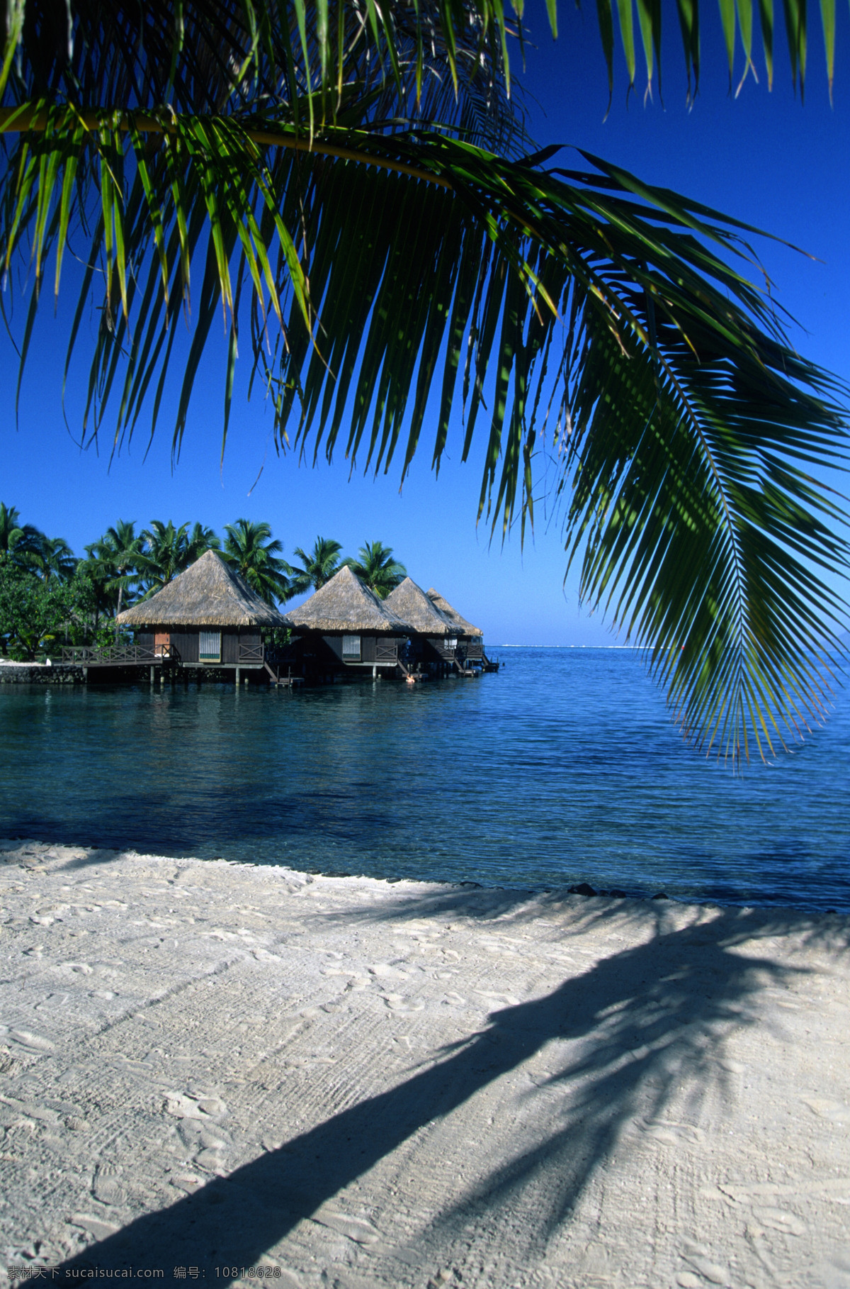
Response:
[{"label": "deep blue rippled ocean between the sandy beach and bungalows", "polygon": [[322,873],[850,910],[850,692],[739,773],[628,650],[290,693],[0,688],[0,835]]}]

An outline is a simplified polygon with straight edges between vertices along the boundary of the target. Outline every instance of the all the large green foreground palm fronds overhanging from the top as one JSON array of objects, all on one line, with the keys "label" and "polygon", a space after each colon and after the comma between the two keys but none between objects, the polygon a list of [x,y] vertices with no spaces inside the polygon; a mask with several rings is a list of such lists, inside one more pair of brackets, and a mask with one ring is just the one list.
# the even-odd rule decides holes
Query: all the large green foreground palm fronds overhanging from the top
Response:
[{"label": "all the large green foreground palm fronds overhanging from the top", "polygon": [[[70,351],[103,282],[89,433],[113,405],[120,443],[146,400],[156,427],[179,363],[179,451],[220,308],[224,436],[240,339],[282,450],[330,458],[345,420],[350,460],[401,458],[403,477],[426,409],[438,467],[462,403],[462,456],[487,443],[479,514],[524,531],[545,447],[582,596],[652,647],[686,731],[738,754],[820,717],[849,548],[817,473],[846,451],[850,396],[751,280],[755,229],[534,150],[501,0],[6,8],[0,128],[19,138],[0,249],[33,266],[21,362],[45,264],[55,253],[58,289],[71,244],[86,268]],[[643,45],[652,82],[663,8],[640,4],[636,41],[632,5],[598,0],[609,84],[617,24],[630,80]],[[695,90],[707,6],[676,9]],[[770,79],[771,0],[761,35],[750,3],[720,10],[730,71],[738,39]],[[802,84],[810,23],[782,13]],[[835,5],[820,13],[832,77]]]}]

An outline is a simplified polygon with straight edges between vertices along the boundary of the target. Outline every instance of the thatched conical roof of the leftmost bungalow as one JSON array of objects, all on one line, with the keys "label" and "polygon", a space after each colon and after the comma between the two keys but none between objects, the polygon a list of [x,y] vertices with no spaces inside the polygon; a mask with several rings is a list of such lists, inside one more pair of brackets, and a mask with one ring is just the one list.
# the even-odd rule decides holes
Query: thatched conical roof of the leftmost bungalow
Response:
[{"label": "thatched conical roof of the leftmost bungalow", "polygon": [[156,596],[118,614],[121,626],[286,626],[281,614],[252,590],[215,550],[169,581]]}]

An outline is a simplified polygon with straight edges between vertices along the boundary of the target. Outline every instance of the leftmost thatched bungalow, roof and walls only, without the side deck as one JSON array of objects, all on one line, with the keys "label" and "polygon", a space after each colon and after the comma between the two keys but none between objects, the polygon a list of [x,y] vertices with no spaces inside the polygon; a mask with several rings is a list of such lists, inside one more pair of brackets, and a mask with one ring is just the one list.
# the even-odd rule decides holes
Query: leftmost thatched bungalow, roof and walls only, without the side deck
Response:
[{"label": "leftmost thatched bungalow, roof and walls only, without the side deck", "polygon": [[137,644],[184,666],[260,668],[261,628],[287,624],[215,550],[207,550],[149,599],[120,614],[118,625],[134,626]]}]

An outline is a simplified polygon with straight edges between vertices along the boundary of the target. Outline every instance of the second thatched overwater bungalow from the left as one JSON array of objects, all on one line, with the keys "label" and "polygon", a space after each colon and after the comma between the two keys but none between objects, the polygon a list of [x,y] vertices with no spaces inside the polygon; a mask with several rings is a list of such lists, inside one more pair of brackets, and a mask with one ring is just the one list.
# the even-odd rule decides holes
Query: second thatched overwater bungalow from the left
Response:
[{"label": "second thatched overwater bungalow from the left", "polygon": [[401,651],[412,632],[410,623],[388,608],[348,566],[298,608],[283,614],[283,621],[301,638],[305,675],[407,672]]}]

